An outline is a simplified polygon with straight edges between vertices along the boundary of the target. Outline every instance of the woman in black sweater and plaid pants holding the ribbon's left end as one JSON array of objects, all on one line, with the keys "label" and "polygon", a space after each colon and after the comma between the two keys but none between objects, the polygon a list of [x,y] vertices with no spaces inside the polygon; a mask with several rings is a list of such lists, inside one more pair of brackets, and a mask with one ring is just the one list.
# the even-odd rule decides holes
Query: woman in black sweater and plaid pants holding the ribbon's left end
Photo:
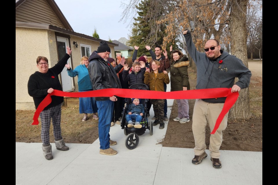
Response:
[{"label": "woman in black sweater and plaid pants holding the ribbon's left end", "polygon": [[[48,60],[46,57],[37,57],[37,68],[28,81],[28,93],[34,99],[36,109],[48,93],[55,90],[62,90],[58,75],[63,71],[67,60],[70,58],[72,50],[67,47],[65,56],[52,68],[48,68]],[[55,138],[56,149],[66,151],[69,147],[65,146],[65,141],[61,134],[61,103],[64,98],[60,96],[51,96],[51,103],[46,106],[40,113],[41,117],[41,140],[43,142],[43,155],[47,160],[53,159],[52,148],[50,145],[50,121],[52,119],[53,134]]]}]

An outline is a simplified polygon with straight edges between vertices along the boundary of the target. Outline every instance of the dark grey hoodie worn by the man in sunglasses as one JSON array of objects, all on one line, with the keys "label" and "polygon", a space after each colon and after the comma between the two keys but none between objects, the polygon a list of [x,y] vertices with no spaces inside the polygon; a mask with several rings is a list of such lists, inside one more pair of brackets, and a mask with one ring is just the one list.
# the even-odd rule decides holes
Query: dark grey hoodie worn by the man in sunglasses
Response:
[{"label": "dark grey hoodie worn by the man in sunglasses", "polygon": [[[197,66],[196,89],[231,88],[234,85],[235,77],[239,78],[236,85],[240,88],[243,89],[249,86],[251,71],[240,59],[220,50],[222,54],[220,58],[216,61],[210,60],[205,53],[197,51],[189,30],[184,35],[184,38],[189,55]],[[224,103],[226,97],[203,100],[208,103]]]}]

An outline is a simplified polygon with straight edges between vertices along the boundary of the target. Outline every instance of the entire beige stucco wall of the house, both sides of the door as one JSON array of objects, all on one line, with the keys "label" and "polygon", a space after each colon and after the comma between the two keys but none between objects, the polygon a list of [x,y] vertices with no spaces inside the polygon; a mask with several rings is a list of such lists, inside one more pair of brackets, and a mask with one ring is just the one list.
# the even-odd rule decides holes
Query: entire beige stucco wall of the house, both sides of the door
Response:
[{"label": "entire beige stucco wall of the house, both sides of the door", "polygon": [[[38,71],[36,58],[45,56],[48,59],[49,67],[54,66],[58,61],[55,32],[45,29],[32,29],[16,27],[16,110],[35,110],[33,98],[28,94],[28,80],[30,75]],[[73,41],[78,43],[74,47]],[[72,68],[80,64],[80,44],[90,45],[92,51],[97,50],[99,42],[70,36],[72,49]],[[114,53],[114,46],[109,45],[111,53]],[[115,58],[112,54],[112,58]],[[59,77],[60,78],[60,77]],[[78,79],[74,78],[75,90],[78,91]]]}]

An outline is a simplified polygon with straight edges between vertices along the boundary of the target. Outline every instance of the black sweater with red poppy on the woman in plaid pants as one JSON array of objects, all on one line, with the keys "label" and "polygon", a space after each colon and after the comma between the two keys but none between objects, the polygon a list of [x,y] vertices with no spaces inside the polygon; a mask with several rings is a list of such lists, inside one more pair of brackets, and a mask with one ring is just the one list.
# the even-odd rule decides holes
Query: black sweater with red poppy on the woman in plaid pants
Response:
[{"label": "black sweater with red poppy on the woman in plaid pants", "polygon": [[[54,67],[48,69],[47,73],[36,71],[30,76],[28,81],[28,94],[33,97],[36,109],[48,94],[47,90],[49,88],[63,90],[58,75],[63,71],[69,58],[70,56],[66,53]],[[51,96],[51,98],[52,102],[44,110],[57,106],[64,101],[64,98],[59,96]]]}]

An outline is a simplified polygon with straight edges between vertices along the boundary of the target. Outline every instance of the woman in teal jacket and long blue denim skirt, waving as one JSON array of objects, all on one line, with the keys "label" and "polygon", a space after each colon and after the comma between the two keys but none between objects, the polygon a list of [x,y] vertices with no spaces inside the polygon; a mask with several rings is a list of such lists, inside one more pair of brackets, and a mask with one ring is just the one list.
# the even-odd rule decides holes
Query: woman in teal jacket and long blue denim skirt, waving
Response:
[{"label": "woman in teal jacket and long blue denim skirt, waving", "polygon": [[[87,56],[83,56],[81,58],[80,65],[77,66],[74,70],[70,68],[69,64],[65,65],[65,67],[67,68],[67,74],[70,77],[75,77],[76,75],[78,76],[78,92],[93,90],[92,82],[87,69],[88,65],[89,61]],[[93,113],[93,119],[98,119],[96,112],[98,112],[98,107],[96,105],[96,100],[94,97],[79,98],[79,113],[84,113],[82,121],[86,121],[88,119],[88,113]]]}]

